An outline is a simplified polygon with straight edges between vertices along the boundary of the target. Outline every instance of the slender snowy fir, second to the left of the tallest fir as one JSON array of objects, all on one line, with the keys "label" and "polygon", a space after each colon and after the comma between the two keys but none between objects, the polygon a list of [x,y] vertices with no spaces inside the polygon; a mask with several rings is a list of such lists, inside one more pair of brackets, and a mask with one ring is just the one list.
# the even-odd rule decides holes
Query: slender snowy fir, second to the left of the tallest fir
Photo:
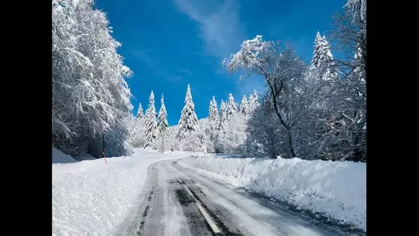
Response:
[{"label": "slender snowy fir, second to the left of the tallest fir", "polygon": [[152,90],[148,99],[148,108],[145,111],[145,143],[144,148],[156,148],[155,140],[157,136],[156,107],[154,106],[154,92]]}]

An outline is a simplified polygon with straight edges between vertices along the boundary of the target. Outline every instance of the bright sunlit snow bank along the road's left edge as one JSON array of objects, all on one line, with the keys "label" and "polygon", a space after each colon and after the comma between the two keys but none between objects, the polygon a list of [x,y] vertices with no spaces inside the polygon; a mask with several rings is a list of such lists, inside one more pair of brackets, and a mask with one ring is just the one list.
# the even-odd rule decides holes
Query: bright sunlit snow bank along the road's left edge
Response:
[{"label": "bright sunlit snow bank along the road's left edge", "polygon": [[134,149],[132,157],[108,158],[108,165],[104,159],[52,164],[52,235],[112,235],[139,200],[147,168],[178,157]]}]

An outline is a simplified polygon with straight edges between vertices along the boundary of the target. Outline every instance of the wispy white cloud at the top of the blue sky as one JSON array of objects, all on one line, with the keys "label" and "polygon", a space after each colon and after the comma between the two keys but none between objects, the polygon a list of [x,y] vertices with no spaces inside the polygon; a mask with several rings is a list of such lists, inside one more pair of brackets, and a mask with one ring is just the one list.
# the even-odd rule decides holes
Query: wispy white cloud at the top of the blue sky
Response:
[{"label": "wispy white cloud at the top of the blue sky", "polygon": [[199,37],[205,44],[204,55],[229,57],[245,40],[237,0],[175,0],[178,9],[200,24]]}]

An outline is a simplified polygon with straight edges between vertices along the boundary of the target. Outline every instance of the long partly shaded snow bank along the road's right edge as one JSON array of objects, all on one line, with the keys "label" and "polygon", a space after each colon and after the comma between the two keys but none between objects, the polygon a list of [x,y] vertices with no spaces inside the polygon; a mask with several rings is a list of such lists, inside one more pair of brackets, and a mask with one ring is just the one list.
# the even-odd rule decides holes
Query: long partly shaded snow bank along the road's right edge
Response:
[{"label": "long partly shaded snow bank along the road's right edge", "polygon": [[366,164],[280,157],[192,157],[179,164],[366,230]]}]

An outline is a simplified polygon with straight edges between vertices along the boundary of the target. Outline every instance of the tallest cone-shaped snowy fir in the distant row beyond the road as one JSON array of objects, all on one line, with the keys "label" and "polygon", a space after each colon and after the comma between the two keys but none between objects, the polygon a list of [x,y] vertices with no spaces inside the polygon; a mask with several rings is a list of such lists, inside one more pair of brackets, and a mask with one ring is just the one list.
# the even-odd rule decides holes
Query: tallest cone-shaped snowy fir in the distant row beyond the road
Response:
[{"label": "tallest cone-shaped snowy fir in the distant row beyond the road", "polygon": [[[183,139],[188,135],[191,135],[198,124],[198,117],[195,113],[194,101],[192,101],[192,93],[190,85],[187,85],[186,95],[185,95],[185,106],[183,106],[181,118],[178,123],[178,132],[176,134],[176,140],[179,142],[181,150],[183,150]],[[189,147],[194,149],[195,147]],[[198,147],[196,147],[198,148]]]}]

